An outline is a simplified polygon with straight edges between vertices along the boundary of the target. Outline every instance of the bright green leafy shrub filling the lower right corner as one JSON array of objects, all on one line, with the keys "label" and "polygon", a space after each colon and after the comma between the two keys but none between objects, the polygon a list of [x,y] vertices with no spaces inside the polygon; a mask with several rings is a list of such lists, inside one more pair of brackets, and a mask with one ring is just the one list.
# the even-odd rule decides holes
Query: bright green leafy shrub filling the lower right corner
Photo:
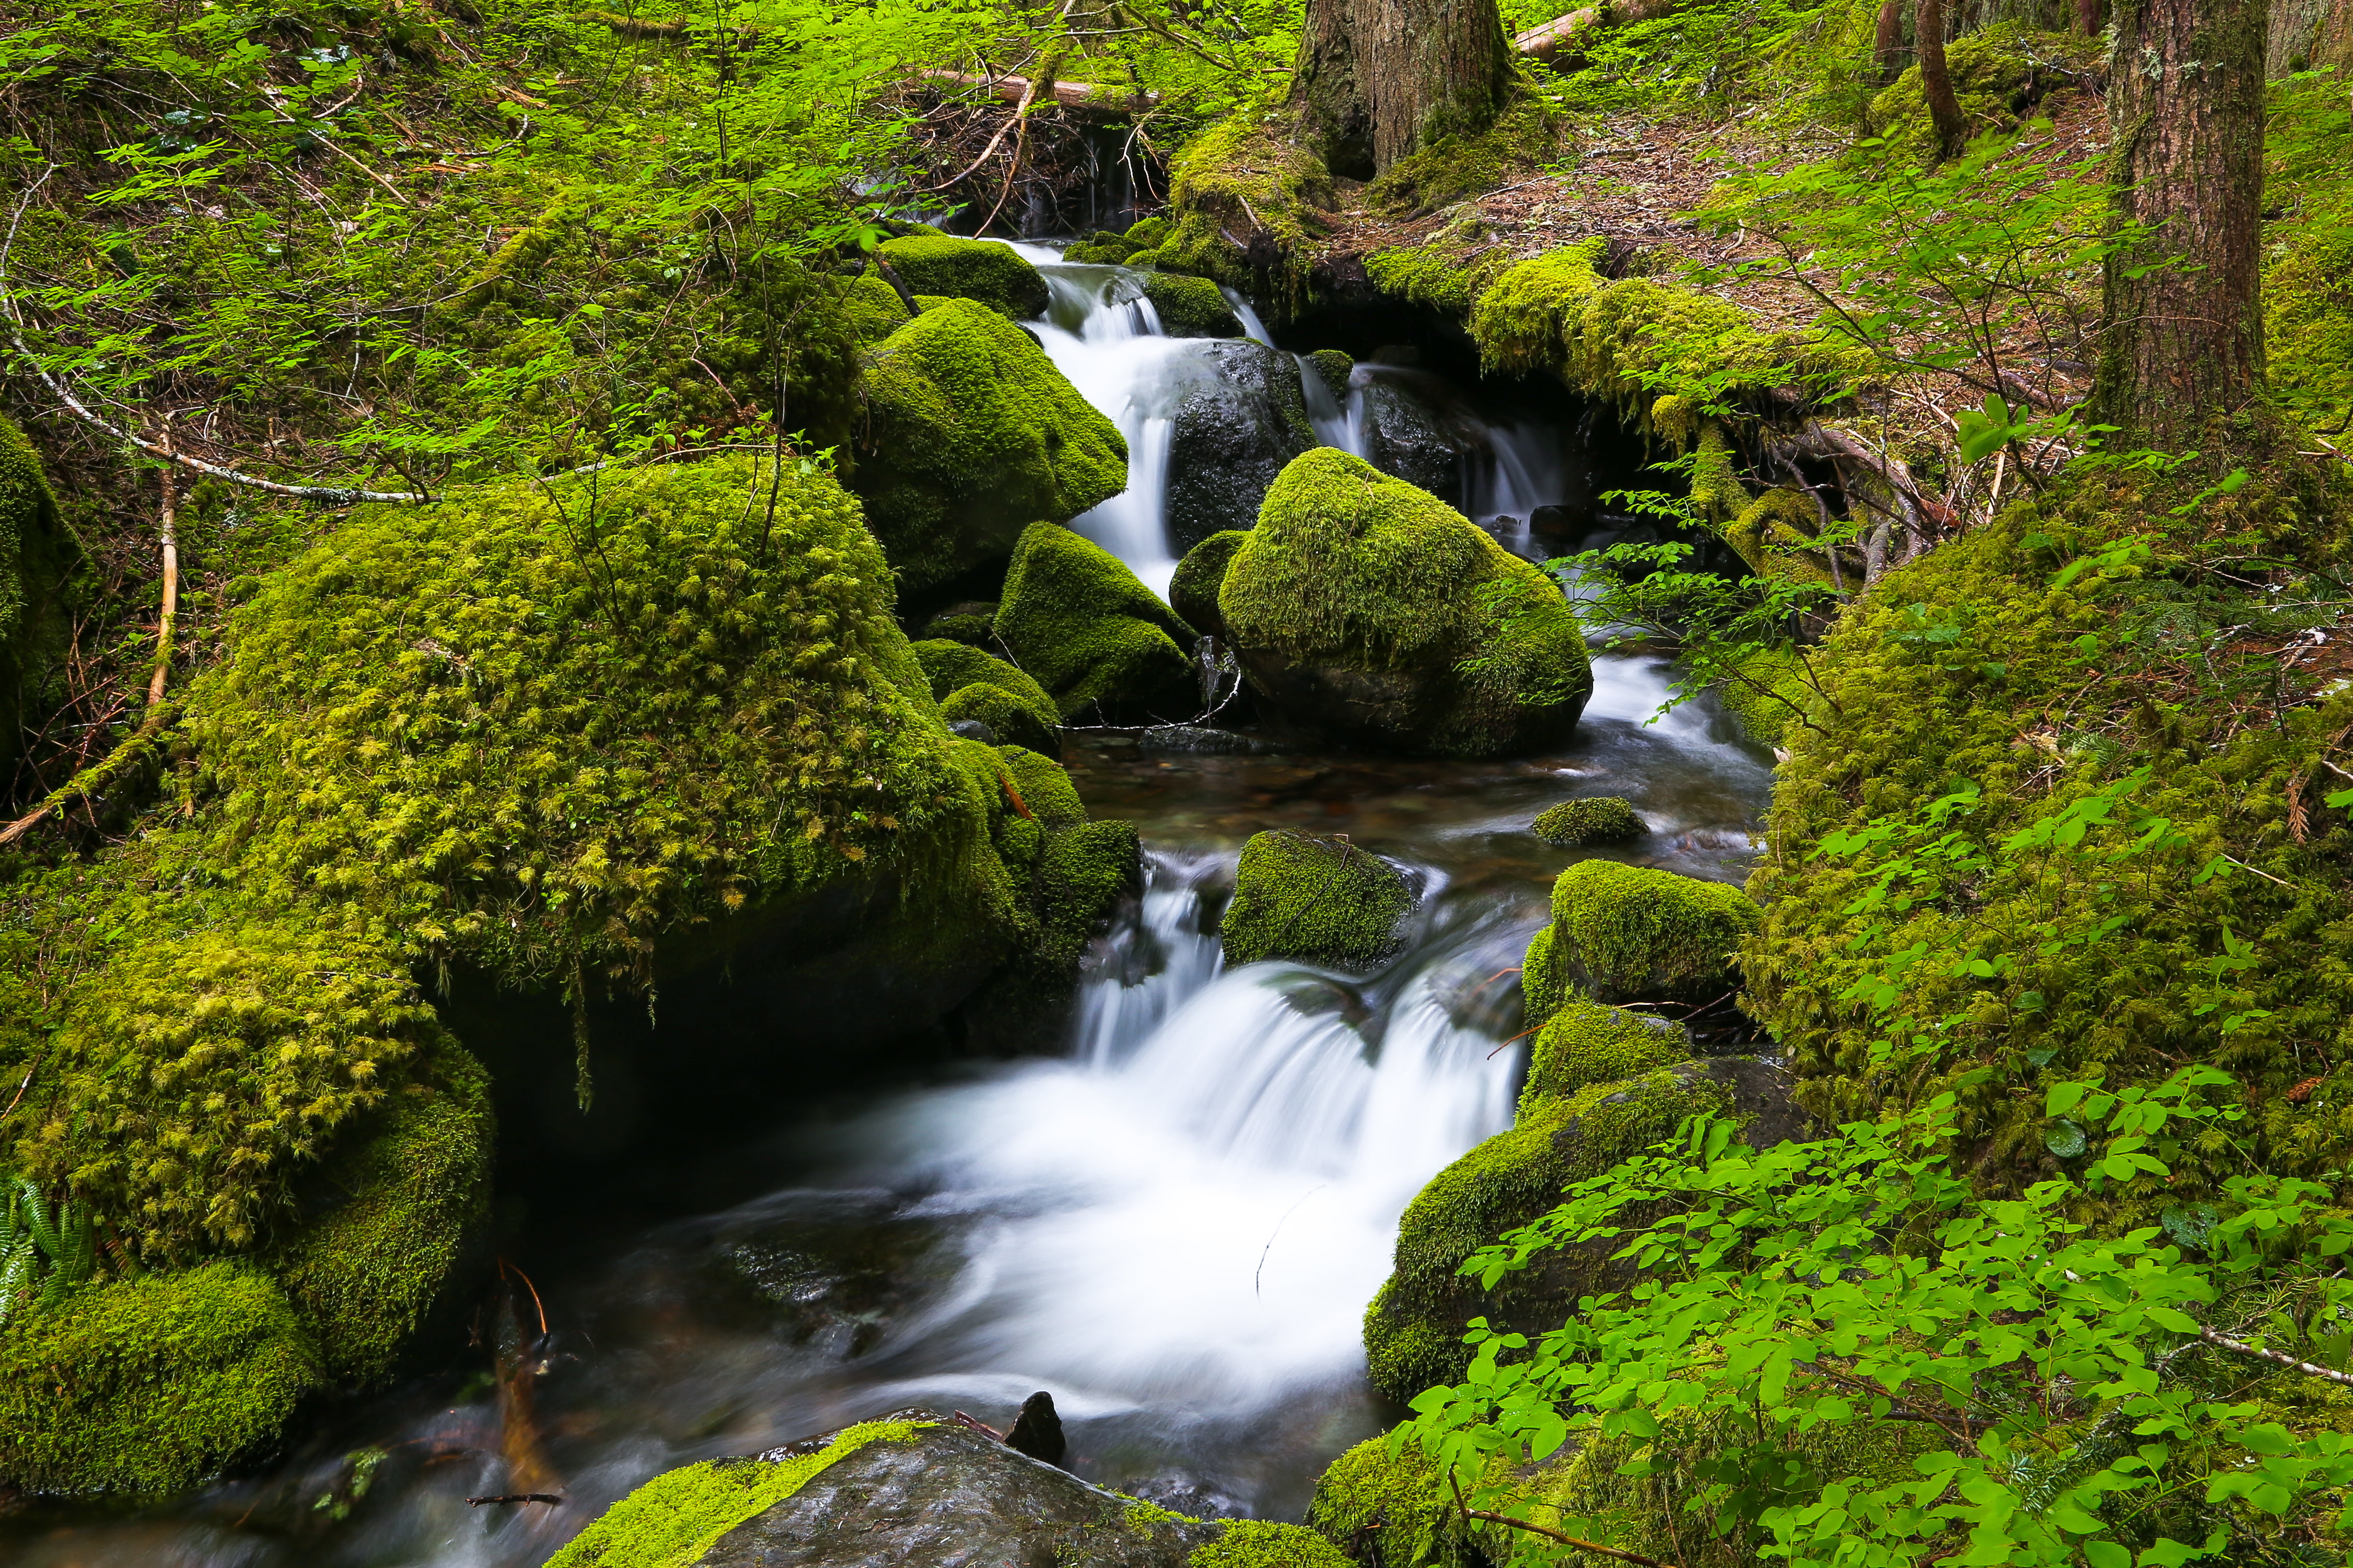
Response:
[{"label": "bright green leafy shrub filling the lower right corner", "polygon": [[[2249,1345],[2339,1342],[2353,1225],[2337,1194],[2235,1175],[2195,1222],[2068,1218],[2242,1117],[2214,1103],[2228,1088],[2209,1067],[2155,1091],[2054,1086],[2047,1112],[2101,1128],[2106,1152],[2014,1199],[1979,1197],[1955,1164],[1953,1095],[1765,1152],[1699,1114],[1466,1265],[1494,1286],[1609,1246],[1645,1281],[1539,1342],[1473,1328],[1466,1378],[1414,1399],[1409,1441],[1497,1497],[1499,1458],[1647,1443],[1619,1474],[1657,1479],[1659,1450],[1699,1436],[1680,1535],[1732,1549],[1713,1561],[1920,1563],[1967,1542],[1984,1561],[2125,1568],[2285,1547],[2353,1483],[2353,1439]],[[1934,1441],[1899,1465],[1889,1420]],[[1605,1497],[1565,1488],[1555,1528],[1624,1540],[1577,1502]],[[1511,1547],[1567,1561],[1537,1535]]]}]

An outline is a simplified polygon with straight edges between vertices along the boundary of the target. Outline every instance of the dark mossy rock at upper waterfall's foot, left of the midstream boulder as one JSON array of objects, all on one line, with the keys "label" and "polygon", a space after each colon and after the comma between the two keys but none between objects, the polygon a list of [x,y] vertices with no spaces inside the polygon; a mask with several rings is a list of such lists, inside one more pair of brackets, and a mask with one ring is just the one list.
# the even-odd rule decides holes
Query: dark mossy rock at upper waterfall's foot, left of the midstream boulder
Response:
[{"label": "dark mossy rock at upper waterfall's foot, left of the midstream boulder", "polygon": [[1184,717],[1198,708],[1191,625],[1094,541],[1052,522],[1021,531],[998,637],[1064,719],[1089,708]]}]

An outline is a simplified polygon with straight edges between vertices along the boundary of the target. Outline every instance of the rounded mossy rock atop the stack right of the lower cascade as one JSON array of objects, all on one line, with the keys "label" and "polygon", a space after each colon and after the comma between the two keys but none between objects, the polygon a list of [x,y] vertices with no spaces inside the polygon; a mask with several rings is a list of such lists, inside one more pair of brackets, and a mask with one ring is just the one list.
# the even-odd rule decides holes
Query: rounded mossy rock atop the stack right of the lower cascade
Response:
[{"label": "rounded mossy rock atop the stack right of the lower cascade", "polygon": [[1739,985],[1758,929],[1737,886],[1584,860],[1553,882],[1555,961],[1598,1001],[1708,1004]]}]

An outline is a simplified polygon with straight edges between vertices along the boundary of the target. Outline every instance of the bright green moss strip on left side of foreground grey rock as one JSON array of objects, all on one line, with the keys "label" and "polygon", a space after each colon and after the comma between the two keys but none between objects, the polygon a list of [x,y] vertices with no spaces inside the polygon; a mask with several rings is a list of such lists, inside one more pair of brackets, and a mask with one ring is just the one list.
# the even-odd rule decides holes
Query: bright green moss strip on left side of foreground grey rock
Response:
[{"label": "bright green moss strip on left side of foreground grey rock", "polygon": [[784,1502],[868,1443],[913,1443],[934,1422],[868,1420],[788,1460],[704,1460],[654,1476],[605,1509],[548,1568],[687,1568],[727,1530]]}]

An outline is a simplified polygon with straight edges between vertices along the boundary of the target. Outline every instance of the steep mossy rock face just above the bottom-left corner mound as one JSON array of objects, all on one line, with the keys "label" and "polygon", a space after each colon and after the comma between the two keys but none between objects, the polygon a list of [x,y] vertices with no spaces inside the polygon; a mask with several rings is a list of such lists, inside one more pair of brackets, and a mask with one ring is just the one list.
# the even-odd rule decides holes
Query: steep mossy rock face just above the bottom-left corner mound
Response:
[{"label": "steep mossy rock face just above the bottom-left corner mound", "polygon": [[489,1074],[454,1041],[395,1088],[308,1185],[341,1199],[266,1262],[339,1378],[393,1375],[489,1218]]}]

